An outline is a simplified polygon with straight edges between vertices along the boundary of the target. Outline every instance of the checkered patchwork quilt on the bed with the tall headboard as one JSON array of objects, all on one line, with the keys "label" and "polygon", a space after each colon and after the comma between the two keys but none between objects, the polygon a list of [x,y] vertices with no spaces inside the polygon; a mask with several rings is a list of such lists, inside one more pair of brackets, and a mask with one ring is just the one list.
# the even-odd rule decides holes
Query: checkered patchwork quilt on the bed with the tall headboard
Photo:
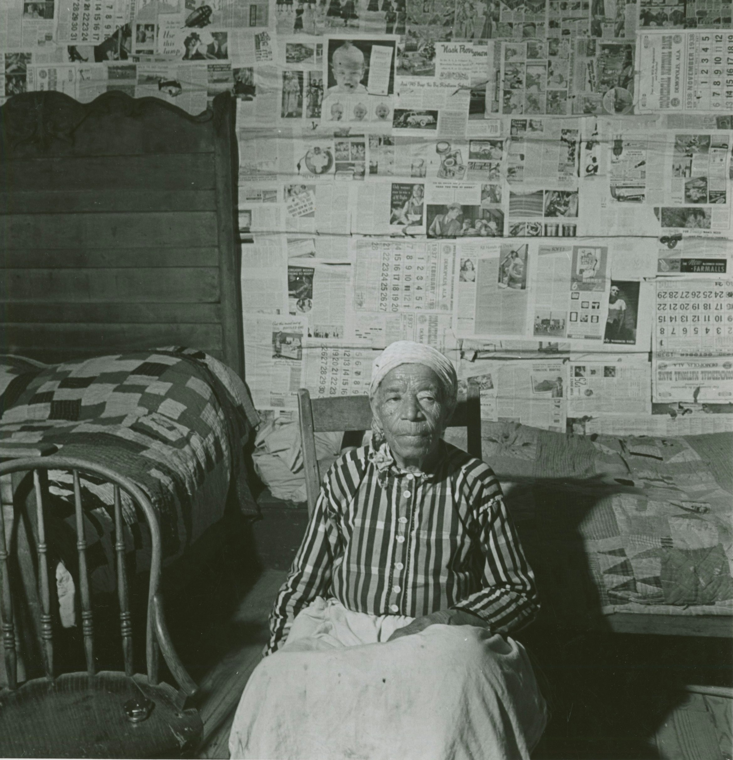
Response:
[{"label": "checkered patchwork quilt on the bed with the tall headboard", "polygon": [[[245,513],[257,513],[243,460],[257,413],[242,380],[200,351],[165,347],[54,366],[0,357],[0,412],[0,443],[55,445],[140,486],[158,516],[164,562],[222,517],[230,488]],[[112,486],[95,477],[81,484],[93,585],[112,591]],[[49,485],[49,543],[68,544],[73,556],[71,473],[52,470]],[[147,568],[144,516],[125,496],[122,508],[131,570]]]}]

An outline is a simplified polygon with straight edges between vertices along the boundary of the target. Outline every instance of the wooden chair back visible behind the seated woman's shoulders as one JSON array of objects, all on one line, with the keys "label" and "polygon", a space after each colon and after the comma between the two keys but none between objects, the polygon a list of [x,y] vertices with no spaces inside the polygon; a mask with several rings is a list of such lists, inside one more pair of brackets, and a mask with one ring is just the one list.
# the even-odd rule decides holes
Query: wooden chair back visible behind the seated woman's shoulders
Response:
[{"label": "wooden chair back visible behind the seated woman's shoulders", "polygon": [[[472,457],[481,459],[481,389],[469,378],[466,401],[460,401],[448,427],[465,427],[466,449]],[[352,432],[371,429],[371,406],[368,396],[314,398],[307,388],[298,391],[298,416],[305,470],[305,492],[308,496],[308,515],[313,514],[321,489],[321,472],[315,450],[317,432]]]}]

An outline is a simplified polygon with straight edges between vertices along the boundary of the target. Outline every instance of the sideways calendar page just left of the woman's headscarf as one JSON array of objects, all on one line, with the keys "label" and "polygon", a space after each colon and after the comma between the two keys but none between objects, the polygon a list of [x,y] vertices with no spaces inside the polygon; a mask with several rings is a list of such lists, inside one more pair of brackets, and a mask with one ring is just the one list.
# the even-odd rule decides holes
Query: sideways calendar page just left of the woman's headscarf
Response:
[{"label": "sideways calendar page just left of the woman's headscarf", "polygon": [[306,339],[304,387],[311,398],[365,395],[371,382],[371,345]]}]

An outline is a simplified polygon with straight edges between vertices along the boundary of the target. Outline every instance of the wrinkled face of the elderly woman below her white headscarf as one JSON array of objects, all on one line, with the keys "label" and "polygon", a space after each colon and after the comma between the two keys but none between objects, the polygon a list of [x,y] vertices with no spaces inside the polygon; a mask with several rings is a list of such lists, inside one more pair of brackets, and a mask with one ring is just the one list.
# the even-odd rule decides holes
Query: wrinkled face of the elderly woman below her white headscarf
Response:
[{"label": "wrinkled face of the elderly woman below her white headscarf", "polygon": [[400,467],[421,467],[438,448],[449,405],[432,369],[403,364],[387,372],[371,411]]}]

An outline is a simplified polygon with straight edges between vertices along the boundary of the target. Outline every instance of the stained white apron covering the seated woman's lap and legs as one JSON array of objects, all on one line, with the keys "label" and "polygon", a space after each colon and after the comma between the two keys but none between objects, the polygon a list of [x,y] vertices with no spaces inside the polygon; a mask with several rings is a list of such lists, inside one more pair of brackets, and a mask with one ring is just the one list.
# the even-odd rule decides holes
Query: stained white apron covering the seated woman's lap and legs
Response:
[{"label": "stained white apron covering the seated woman's lap and legs", "polygon": [[523,646],[472,625],[387,642],[411,620],[311,603],[252,673],[232,758],[529,758],[546,711]]}]

